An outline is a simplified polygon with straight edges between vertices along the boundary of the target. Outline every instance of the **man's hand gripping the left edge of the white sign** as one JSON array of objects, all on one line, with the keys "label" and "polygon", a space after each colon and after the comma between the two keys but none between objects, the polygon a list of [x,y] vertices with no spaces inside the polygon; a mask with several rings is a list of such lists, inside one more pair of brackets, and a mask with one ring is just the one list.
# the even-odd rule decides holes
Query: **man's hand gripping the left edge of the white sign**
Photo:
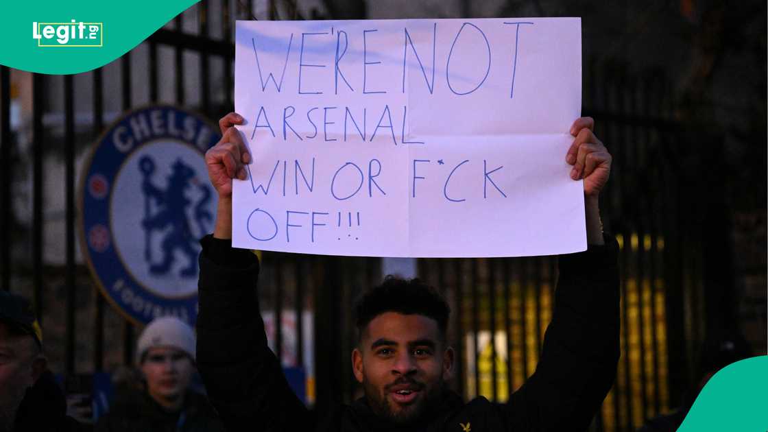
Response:
[{"label": "man's hand gripping the left edge of the white sign", "polygon": [[233,125],[242,125],[243,117],[230,112],[219,120],[222,137],[214,147],[205,154],[205,164],[208,168],[210,184],[219,194],[219,198],[232,197],[232,179],[247,178],[244,164],[250,164],[248,149],[240,137],[240,132]]}]

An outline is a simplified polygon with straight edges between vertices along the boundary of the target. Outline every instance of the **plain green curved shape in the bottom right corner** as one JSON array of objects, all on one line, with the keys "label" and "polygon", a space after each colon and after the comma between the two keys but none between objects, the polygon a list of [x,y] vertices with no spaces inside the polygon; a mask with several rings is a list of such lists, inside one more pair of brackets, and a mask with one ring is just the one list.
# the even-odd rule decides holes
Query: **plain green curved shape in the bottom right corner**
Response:
[{"label": "plain green curved shape in the bottom right corner", "polygon": [[678,432],[768,430],[768,356],[723,367],[707,381]]}]

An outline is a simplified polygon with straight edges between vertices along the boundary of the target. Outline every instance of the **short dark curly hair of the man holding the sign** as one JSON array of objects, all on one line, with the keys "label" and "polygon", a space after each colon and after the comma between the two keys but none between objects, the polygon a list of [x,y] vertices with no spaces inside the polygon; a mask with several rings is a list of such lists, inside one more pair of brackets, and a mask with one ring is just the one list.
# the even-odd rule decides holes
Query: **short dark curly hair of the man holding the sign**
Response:
[{"label": "short dark curly hair of the man holding the sign", "polygon": [[437,322],[441,336],[445,337],[451,308],[435,287],[425,284],[418,277],[403,279],[390,274],[382,284],[366,291],[355,303],[358,340],[373,318],[385,312],[432,318]]}]

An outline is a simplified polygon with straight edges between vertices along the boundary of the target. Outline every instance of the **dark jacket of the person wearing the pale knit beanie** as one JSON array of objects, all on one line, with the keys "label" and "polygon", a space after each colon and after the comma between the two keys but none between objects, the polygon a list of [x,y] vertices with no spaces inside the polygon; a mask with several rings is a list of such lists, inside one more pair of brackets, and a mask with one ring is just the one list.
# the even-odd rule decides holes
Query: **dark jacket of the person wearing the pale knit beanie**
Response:
[{"label": "dark jacket of the person wearing the pale knit beanie", "polygon": [[146,392],[115,400],[96,424],[96,432],[219,432],[224,427],[206,397],[187,391],[184,407],[168,412]]}]

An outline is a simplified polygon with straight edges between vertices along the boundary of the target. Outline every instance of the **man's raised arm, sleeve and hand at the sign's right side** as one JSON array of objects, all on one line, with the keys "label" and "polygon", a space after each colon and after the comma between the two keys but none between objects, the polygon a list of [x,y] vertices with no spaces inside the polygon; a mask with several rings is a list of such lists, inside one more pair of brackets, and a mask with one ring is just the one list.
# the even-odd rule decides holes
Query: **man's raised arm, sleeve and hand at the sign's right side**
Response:
[{"label": "man's raised arm, sleeve and hand at the sign's right side", "polygon": [[588,251],[559,258],[554,313],[534,374],[503,406],[514,430],[586,430],[611,389],[619,358],[618,245],[604,238],[598,196],[611,155],[590,118],[574,123],[566,159],[584,179]]}]

